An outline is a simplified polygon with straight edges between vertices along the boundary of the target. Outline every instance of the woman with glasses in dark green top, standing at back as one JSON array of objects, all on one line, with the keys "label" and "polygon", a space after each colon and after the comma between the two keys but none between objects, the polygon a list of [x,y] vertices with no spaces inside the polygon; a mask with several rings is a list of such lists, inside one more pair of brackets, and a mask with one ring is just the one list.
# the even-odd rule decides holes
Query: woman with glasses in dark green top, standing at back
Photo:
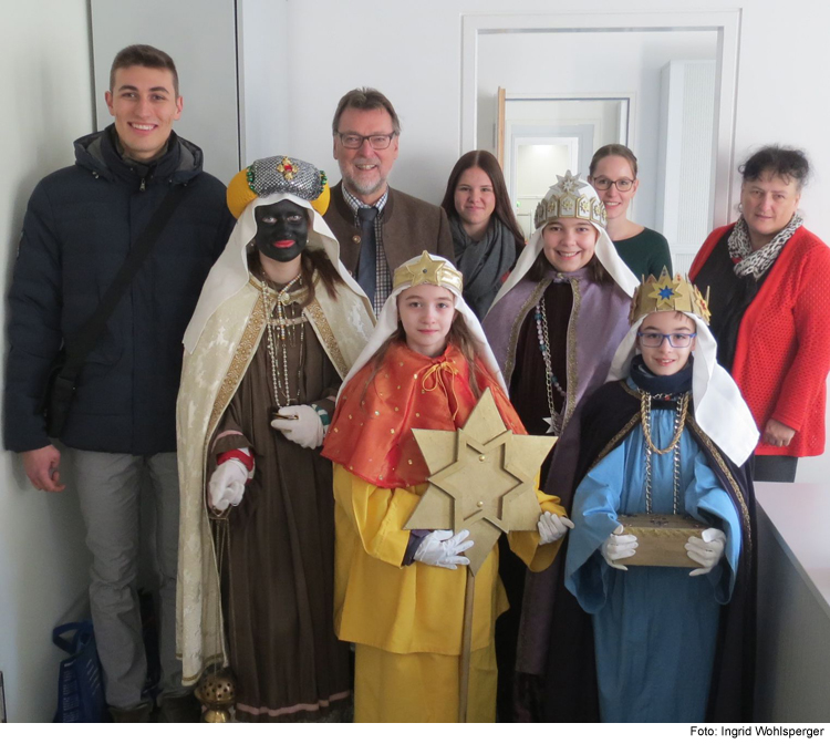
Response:
[{"label": "woman with glasses in dark green top, standing at back", "polygon": [[606,144],[592,157],[589,173],[589,183],[605,205],[608,235],[637,280],[650,275],[660,278],[664,267],[671,275],[668,241],[656,230],[627,218],[629,205],[640,185],[634,153],[623,144]]}]

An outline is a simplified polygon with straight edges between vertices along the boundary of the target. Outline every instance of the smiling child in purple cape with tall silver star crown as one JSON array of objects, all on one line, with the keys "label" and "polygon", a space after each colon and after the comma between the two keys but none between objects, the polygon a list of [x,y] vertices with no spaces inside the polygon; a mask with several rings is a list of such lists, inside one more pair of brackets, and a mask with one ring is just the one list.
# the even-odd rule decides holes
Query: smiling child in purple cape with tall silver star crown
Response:
[{"label": "smiling child in purple cape with tall silver star crown", "polygon": [[[579,406],[609,372],[625,335],[637,280],[605,231],[605,207],[594,189],[570,171],[536,211],[530,237],[484,320],[484,329],[530,434],[560,436],[542,466],[542,487],[570,503],[579,451]],[[502,554],[501,578],[512,605],[497,626],[499,719],[512,719],[513,680],[525,568]],[[519,670],[542,675],[550,599],[559,567],[529,582],[532,621],[525,621]],[[537,633],[537,630],[539,631]]]}]

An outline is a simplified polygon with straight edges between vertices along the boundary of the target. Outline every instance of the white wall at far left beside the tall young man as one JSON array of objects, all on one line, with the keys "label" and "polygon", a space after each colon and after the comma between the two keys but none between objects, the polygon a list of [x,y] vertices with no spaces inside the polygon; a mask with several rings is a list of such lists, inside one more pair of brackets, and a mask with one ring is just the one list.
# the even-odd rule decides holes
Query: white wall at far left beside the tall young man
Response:
[{"label": "white wall at far left beside the tall young man", "polygon": [[[0,24],[0,289],[8,290],[25,204],[45,174],[73,162],[93,131],[85,0],[3,2]],[[7,353],[2,309],[0,353]],[[20,459],[0,454],[0,670],[10,722],[49,721],[58,699],[52,628],[83,611],[87,556],[77,499],[35,492]],[[68,614],[69,613],[69,614]]]}]

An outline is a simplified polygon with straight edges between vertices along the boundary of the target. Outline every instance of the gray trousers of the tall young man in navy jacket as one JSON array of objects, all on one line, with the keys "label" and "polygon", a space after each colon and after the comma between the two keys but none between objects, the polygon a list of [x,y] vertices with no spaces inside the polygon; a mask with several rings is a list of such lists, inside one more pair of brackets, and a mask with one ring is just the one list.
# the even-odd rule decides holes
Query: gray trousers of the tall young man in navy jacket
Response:
[{"label": "gray trousers of the tall young man in navy jacket", "polygon": [[135,456],[77,450],[70,454],[86,524],[86,547],[92,554],[90,603],[107,704],[138,704],[147,674],[136,592],[144,474],[149,474],[156,505],[162,691],[181,693],[175,633],[179,508],[176,454]]}]

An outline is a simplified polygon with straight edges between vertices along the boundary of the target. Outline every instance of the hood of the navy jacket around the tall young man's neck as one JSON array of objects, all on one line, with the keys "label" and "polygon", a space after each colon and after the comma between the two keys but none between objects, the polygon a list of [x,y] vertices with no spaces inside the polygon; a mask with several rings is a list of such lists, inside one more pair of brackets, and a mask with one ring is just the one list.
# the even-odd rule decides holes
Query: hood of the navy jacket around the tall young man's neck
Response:
[{"label": "hood of the navy jacket around the tall young man's neck", "polygon": [[[114,180],[118,175],[134,175],[131,166],[122,159],[115,147],[115,125],[108,125],[75,140],[75,164],[91,173]],[[167,152],[158,159],[153,169],[155,178],[168,178],[173,183],[187,183],[201,173],[204,155],[193,142],[188,142],[170,132]]]}]

